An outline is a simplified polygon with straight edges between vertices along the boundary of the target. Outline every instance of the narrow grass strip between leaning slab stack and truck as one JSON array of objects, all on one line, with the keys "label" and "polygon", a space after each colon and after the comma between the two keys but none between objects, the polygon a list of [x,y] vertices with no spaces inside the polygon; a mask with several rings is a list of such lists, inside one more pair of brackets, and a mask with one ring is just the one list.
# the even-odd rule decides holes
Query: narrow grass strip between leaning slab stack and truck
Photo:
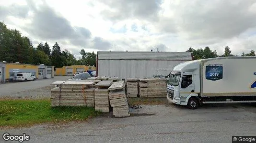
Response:
[{"label": "narrow grass strip between leaning slab stack and truck", "polygon": [[167,104],[167,100],[165,97],[158,98],[134,98],[128,97],[128,103],[131,105],[165,105]]}]

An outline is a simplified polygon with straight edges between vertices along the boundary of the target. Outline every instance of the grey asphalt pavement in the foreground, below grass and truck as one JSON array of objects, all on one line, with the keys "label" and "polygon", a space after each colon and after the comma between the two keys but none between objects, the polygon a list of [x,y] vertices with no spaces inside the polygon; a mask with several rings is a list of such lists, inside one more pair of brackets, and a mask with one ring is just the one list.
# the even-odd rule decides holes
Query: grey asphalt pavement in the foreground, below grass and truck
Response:
[{"label": "grey asphalt pavement in the foreground, below grass and truck", "polygon": [[[1,129],[30,135],[23,143],[232,143],[233,135],[256,135],[256,107],[208,104],[197,110],[170,104],[143,105],[131,116],[107,114],[85,122]],[[0,140],[0,142],[3,140]]]}]

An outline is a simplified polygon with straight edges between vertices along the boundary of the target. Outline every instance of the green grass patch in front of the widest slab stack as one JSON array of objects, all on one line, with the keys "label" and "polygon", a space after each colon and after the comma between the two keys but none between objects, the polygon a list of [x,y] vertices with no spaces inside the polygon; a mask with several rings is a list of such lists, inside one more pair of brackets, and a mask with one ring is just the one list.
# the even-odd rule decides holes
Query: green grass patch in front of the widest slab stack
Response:
[{"label": "green grass patch in front of the widest slab stack", "polygon": [[51,107],[50,100],[0,101],[0,126],[83,121],[99,114],[93,107]]}]

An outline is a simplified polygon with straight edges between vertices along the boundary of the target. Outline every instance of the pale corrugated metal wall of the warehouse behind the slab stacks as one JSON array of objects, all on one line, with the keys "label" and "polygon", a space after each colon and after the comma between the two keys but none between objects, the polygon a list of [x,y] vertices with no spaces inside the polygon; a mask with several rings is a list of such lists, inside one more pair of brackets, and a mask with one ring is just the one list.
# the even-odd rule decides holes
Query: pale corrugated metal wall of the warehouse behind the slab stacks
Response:
[{"label": "pale corrugated metal wall of the warehouse behind the slab stacks", "polygon": [[147,78],[168,75],[179,63],[185,61],[163,60],[98,60],[98,76]]}]

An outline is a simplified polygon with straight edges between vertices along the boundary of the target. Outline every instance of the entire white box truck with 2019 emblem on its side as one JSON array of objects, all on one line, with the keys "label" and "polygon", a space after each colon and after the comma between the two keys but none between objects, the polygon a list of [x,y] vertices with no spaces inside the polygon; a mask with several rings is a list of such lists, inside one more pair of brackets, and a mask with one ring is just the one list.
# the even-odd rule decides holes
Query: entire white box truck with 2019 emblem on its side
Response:
[{"label": "entire white box truck with 2019 emblem on its side", "polygon": [[256,102],[256,57],[218,57],[175,66],[167,100],[197,109],[201,103]]}]

